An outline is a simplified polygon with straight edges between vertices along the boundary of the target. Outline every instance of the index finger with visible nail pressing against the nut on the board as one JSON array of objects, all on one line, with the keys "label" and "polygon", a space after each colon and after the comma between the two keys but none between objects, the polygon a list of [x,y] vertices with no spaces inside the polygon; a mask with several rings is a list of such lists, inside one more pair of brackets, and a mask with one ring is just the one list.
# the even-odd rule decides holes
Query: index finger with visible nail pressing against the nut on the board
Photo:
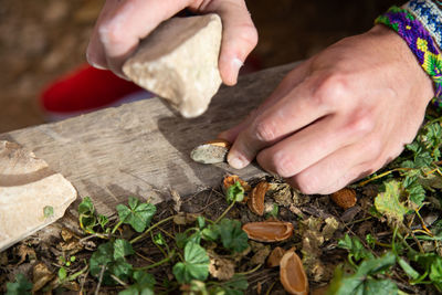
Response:
[{"label": "index finger with visible nail pressing against the nut on the board", "polygon": [[233,168],[248,166],[259,150],[327,115],[327,108],[311,99],[309,84],[297,85],[286,96],[264,109],[238,136],[228,155],[228,161]]}]

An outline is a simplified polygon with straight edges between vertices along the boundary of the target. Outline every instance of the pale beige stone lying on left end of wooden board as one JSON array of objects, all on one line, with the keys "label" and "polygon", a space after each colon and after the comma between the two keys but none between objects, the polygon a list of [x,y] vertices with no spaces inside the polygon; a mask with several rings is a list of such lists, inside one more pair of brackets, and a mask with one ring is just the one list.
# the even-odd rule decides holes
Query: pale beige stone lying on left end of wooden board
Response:
[{"label": "pale beige stone lying on left end of wooden board", "polygon": [[0,141],[0,252],[63,217],[76,191],[19,145]]}]

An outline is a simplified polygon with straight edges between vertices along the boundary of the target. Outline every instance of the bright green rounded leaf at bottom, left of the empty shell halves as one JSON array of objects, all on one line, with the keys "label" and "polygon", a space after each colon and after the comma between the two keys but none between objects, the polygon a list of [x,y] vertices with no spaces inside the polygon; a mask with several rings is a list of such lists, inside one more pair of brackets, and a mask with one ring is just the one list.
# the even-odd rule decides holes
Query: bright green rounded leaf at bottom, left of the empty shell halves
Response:
[{"label": "bright green rounded leaf at bottom, left of the empty shell halves", "polygon": [[209,275],[209,256],[197,243],[188,242],[185,247],[185,261],[173,266],[173,275],[180,284],[192,280],[204,281]]}]

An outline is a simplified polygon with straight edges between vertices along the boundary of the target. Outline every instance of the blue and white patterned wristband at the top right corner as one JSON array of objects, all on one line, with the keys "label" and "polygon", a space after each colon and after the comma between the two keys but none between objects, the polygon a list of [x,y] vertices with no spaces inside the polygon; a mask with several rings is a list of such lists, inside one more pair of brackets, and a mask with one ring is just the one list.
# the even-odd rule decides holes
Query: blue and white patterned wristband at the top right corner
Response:
[{"label": "blue and white patterned wristband at the top right corner", "polygon": [[411,0],[404,8],[413,13],[442,49],[442,10],[431,0]]}]

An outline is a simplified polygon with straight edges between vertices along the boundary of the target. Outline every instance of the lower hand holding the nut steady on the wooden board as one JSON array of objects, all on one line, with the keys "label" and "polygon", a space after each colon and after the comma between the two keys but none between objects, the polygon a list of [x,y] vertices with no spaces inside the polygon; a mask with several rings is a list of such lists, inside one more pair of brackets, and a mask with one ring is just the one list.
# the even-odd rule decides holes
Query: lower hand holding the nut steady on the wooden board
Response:
[{"label": "lower hand holding the nut steady on the wooden board", "polygon": [[297,66],[220,137],[234,143],[232,167],[256,156],[304,193],[332,193],[399,156],[433,94],[407,43],[377,25]]}]

